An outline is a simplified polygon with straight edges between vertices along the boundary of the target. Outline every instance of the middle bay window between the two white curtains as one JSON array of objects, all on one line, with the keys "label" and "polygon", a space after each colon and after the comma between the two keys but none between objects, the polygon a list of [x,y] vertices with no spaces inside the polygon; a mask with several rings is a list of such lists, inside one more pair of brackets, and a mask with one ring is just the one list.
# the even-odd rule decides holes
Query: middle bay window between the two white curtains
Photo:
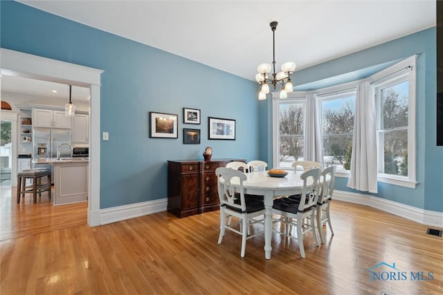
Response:
[{"label": "middle bay window between the two white curtains", "polygon": [[355,91],[319,99],[323,163],[337,171],[350,169],[354,132]]}]

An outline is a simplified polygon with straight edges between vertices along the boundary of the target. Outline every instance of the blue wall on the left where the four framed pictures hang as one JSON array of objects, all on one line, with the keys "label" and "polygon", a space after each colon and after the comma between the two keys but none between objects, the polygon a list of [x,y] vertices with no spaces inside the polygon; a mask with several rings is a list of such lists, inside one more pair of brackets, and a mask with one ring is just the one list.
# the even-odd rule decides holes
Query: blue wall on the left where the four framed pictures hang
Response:
[{"label": "blue wall on the left where the four framed pictures hang", "polygon": [[[206,146],[213,159],[259,157],[255,82],[21,3],[0,10],[2,48],[105,70],[100,208],[166,198],[166,161],[203,159]],[[183,124],[183,107],[199,108],[201,124]],[[179,138],[150,138],[150,111],[178,114]],[[236,140],[208,140],[208,116],[236,120]],[[201,129],[201,144],[183,144],[183,127]]]}]

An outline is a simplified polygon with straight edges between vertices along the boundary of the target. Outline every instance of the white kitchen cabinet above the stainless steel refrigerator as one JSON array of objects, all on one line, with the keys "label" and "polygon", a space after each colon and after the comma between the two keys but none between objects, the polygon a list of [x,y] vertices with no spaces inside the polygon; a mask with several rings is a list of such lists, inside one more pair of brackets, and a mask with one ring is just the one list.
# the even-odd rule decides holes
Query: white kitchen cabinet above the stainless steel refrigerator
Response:
[{"label": "white kitchen cabinet above the stainless steel refrigerator", "polygon": [[33,126],[71,129],[71,117],[64,115],[64,111],[33,108]]}]

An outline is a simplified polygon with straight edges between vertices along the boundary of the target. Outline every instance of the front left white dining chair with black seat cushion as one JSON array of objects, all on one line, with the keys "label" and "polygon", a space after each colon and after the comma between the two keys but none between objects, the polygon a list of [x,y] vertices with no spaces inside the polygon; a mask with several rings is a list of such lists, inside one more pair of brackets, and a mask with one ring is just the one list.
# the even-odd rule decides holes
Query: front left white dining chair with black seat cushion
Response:
[{"label": "front left white dining chair with black seat cushion", "polygon": [[[240,256],[244,257],[246,240],[264,232],[262,230],[250,234],[249,231],[251,225],[255,223],[263,224],[262,220],[254,220],[253,218],[264,215],[264,204],[257,200],[244,198],[243,182],[247,178],[242,171],[219,167],[215,169],[215,174],[217,175],[217,188],[220,199],[220,235],[218,243],[221,244],[225,229],[241,235],[242,249]],[[233,178],[239,178],[239,187],[237,188],[239,193],[235,193],[235,187],[231,182]],[[226,217],[229,218],[230,216],[239,218],[238,224],[230,225],[230,222],[226,222]]]}]

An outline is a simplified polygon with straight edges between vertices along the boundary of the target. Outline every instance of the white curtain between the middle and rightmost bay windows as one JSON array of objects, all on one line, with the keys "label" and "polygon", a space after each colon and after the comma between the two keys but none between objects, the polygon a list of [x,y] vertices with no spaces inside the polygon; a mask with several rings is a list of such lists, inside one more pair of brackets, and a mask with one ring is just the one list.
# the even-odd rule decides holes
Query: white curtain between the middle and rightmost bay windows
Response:
[{"label": "white curtain between the middle and rightmost bay windows", "polygon": [[370,82],[357,87],[354,139],[347,187],[377,193],[377,129],[375,99]]}]

